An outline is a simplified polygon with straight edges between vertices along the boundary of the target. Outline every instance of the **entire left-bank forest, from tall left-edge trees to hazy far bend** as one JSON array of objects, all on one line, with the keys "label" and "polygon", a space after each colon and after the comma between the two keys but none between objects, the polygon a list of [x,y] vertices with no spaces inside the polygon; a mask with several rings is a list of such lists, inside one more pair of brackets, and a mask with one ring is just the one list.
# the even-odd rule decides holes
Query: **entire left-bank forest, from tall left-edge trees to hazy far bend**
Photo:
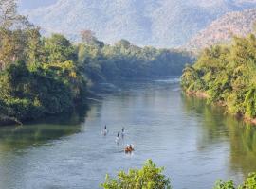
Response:
[{"label": "entire left-bank forest, from tall left-edge trees to hazy far bend", "polygon": [[88,83],[177,75],[192,60],[125,40],[104,44],[90,30],[81,37],[81,43],[61,34],[46,38],[17,13],[15,1],[0,2],[1,124],[70,111],[85,103]]}]

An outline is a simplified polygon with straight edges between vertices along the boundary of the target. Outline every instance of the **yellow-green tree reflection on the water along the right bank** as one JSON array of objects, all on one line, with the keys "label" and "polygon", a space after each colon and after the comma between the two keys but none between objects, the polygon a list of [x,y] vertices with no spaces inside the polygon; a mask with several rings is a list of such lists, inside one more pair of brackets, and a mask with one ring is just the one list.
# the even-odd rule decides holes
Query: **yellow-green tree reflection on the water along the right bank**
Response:
[{"label": "yellow-green tree reflection on the water along the right bank", "polygon": [[256,171],[256,127],[225,114],[223,108],[210,106],[206,100],[182,94],[184,110],[202,119],[198,148],[229,142],[229,168],[247,175]]}]

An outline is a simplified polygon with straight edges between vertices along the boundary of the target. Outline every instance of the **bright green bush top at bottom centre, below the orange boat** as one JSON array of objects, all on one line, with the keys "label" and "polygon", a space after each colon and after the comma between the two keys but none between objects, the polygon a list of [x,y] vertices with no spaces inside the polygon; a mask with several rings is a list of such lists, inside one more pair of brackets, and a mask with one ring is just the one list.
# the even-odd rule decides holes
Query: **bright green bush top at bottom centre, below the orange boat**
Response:
[{"label": "bright green bush top at bottom centre, below the orange boat", "polygon": [[156,167],[151,160],[147,161],[141,169],[130,169],[128,173],[120,171],[118,179],[106,176],[104,189],[171,189],[170,180],[162,174],[163,168]]}]

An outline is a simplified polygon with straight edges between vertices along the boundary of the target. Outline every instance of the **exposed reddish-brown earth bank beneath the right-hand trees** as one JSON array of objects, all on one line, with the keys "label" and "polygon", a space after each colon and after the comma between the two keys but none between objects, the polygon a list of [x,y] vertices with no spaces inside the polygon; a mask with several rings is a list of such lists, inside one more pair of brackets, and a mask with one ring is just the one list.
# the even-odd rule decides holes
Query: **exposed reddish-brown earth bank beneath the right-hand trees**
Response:
[{"label": "exposed reddish-brown earth bank beneath the right-hand trees", "polygon": [[[198,98],[203,98],[203,99],[207,99],[209,98],[209,94],[207,94],[206,92],[193,92],[193,91],[185,91],[186,94],[189,94],[189,95],[192,95],[192,96],[196,96]],[[226,103],[223,101],[223,102],[217,102],[215,103],[214,105],[217,105],[217,106],[220,106],[220,107],[226,107]],[[230,113],[229,113],[230,114]],[[237,115],[235,115],[237,116]],[[251,117],[246,117],[245,115],[239,115],[239,117],[241,117],[244,122],[246,123],[250,123],[254,126],[256,126],[256,118],[251,118]]]}]

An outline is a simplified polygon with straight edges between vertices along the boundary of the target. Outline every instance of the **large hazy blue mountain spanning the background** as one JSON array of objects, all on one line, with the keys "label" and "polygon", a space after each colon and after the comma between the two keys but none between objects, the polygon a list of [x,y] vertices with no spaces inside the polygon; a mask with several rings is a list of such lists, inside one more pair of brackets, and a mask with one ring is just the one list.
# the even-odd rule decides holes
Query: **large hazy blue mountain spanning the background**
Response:
[{"label": "large hazy blue mountain spanning the background", "polygon": [[174,47],[227,12],[254,7],[256,0],[57,0],[23,11],[46,33],[62,32],[74,40],[82,29],[91,29],[107,43],[127,39]]}]

